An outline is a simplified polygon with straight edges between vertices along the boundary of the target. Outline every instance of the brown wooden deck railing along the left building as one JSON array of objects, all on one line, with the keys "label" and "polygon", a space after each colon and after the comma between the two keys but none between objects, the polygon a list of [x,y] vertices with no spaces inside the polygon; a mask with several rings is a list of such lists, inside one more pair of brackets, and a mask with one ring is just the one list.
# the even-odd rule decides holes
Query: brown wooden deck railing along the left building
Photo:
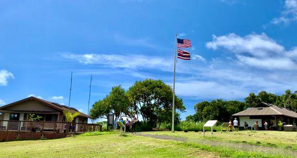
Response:
[{"label": "brown wooden deck railing along the left building", "polygon": [[100,124],[56,122],[56,121],[29,121],[29,120],[0,120],[0,131],[28,131],[28,132],[56,132],[56,133],[85,133],[101,131]]}]

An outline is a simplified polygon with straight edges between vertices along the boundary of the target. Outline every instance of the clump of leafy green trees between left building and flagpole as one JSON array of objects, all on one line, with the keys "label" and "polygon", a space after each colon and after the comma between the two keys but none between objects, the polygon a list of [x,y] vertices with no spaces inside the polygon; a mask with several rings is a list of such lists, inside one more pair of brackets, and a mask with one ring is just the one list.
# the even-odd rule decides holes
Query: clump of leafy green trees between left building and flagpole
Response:
[{"label": "clump of leafy green trees between left building and flagpole", "polygon": [[[112,87],[109,95],[93,105],[90,115],[93,118],[106,118],[109,113],[115,114],[117,118],[121,115],[136,115],[156,127],[158,123],[171,121],[172,96],[171,87],[162,80],[136,81],[128,91],[120,85]],[[182,99],[177,96],[175,108],[180,112],[186,109]]]}]

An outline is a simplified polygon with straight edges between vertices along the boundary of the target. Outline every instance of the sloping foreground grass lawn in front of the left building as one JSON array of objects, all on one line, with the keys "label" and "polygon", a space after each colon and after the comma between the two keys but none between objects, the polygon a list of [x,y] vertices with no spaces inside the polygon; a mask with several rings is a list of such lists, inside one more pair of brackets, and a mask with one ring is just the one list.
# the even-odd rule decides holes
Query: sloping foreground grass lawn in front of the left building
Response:
[{"label": "sloping foreground grass lawn in front of the left building", "polygon": [[[170,132],[148,132],[168,134]],[[197,133],[187,133],[195,136]],[[216,133],[215,133],[216,134]],[[183,132],[175,136],[185,136]],[[227,134],[226,134],[227,135]],[[86,133],[76,137],[55,140],[14,141],[0,143],[1,158],[280,158],[281,155],[263,155],[230,149],[215,148],[197,143],[154,139],[118,132]]]}]

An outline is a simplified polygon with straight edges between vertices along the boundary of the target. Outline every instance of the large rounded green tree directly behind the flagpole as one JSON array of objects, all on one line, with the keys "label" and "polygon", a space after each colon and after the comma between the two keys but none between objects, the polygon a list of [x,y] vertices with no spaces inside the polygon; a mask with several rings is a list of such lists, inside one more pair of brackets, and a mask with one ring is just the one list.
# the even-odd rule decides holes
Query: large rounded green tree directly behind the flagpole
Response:
[{"label": "large rounded green tree directly behind the flagpole", "polygon": [[[136,81],[127,91],[132,109],[141,115],[144,122],[156,127],[160,118],[170,118],[173,92],[162,80],[145,79]],[[182,99],[175,96],[175,108],[185,111]],[[171,111],[172,112],[172,111]],[[166,117],[166,118],[167,118]]]}]

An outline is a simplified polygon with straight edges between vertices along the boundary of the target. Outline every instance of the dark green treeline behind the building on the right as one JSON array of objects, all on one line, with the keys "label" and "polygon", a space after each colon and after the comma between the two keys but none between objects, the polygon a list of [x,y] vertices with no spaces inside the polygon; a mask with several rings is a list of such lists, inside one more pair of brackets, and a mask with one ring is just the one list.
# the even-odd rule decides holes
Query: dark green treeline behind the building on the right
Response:
[{"label": "dark green treeline behind the building on the right", "polygon": [[233,114],[253,107],[259,102],[274,104],[297,112],[297,91],[292,92],[288,89],[283,95],[275,95],[266,91],[261,91],[258,95],[249,93],[244,102],[223,101],[222,99],[200,102],[195,105],[196,114],[190,115],[186,119],[196,122],[210,119],[228,121]]}]

